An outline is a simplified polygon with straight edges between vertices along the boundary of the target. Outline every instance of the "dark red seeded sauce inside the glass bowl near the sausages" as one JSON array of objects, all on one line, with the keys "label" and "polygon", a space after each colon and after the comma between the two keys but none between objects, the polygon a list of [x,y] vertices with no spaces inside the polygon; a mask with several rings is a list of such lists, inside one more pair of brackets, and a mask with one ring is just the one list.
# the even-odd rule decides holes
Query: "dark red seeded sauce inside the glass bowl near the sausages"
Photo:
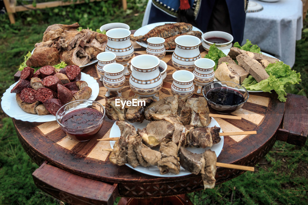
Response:
[{"label": "dark red seeded sauce inside the glass bowl near the sausages", "polygon": [[103,125],[103,114],[93,108],[85,107],[68,112],[61,119],[63,131],[79,141],[93,138]]}]

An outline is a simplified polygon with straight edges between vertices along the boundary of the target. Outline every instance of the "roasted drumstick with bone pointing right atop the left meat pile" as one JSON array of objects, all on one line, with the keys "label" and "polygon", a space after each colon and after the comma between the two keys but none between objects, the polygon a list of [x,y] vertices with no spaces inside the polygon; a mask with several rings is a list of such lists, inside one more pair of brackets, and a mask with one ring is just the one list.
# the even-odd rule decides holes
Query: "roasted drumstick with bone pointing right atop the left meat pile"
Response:
[{"label": "roasted drumstick with bone pointing right atop the left meat pile", "polygon": [[79,27],[78,23],[73,23],[71,25],[65,25],[65,24],[50,25],[44,32],[43,42],[58,38],[59,36],[61,36],[64,30],[77,29],[78,27]]}]

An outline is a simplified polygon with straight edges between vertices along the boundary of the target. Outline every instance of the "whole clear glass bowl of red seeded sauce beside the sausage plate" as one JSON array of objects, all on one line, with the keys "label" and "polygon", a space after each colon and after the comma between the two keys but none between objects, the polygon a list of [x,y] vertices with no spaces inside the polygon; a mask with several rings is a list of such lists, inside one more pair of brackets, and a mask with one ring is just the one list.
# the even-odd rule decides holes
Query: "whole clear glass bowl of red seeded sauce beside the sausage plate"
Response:
[{"label": "whole clear glass bowl of red seeded sauce beside the sausage plate", "polygon": [[68,137],[88,141],[103,125],[105,108],[93,100],[76,100],[63,105],[56,113],[60,128]]}]

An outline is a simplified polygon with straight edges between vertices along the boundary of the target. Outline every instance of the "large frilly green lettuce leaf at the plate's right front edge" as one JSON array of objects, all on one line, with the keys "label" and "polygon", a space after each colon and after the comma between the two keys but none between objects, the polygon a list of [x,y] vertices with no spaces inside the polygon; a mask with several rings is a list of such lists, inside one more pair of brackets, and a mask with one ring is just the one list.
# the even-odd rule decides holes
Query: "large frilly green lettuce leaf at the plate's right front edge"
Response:
[{"label": "large frilly green lettuce leaf at the plate's right front edge", "polygon": [[257,82],[251,75],[245,78],[242,86],[249,90],[262,90],[263,92],[271,93],[275,90],[278,94],[278,99],[286,102],[286,87],[289,85],[298,84],[301,82],[301,74],[296,73],[290,66],[284,64],[282,61],[270,63],[265,71],[270,75],[269,78]]}]

